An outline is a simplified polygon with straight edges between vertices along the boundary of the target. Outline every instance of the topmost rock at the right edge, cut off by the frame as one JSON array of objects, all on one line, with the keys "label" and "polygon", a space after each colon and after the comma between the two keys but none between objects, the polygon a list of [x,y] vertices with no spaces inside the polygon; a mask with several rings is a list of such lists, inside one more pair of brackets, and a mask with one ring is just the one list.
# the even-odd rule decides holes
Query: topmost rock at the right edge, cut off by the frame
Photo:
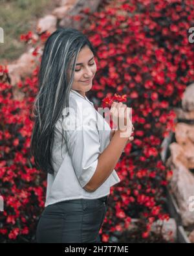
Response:
[{"label": "topmost rock at the right edge, cut off by the frame", "polygon": [[186,87],[183,93],[182,108],[186,111],[194,110],[194,83]]}]

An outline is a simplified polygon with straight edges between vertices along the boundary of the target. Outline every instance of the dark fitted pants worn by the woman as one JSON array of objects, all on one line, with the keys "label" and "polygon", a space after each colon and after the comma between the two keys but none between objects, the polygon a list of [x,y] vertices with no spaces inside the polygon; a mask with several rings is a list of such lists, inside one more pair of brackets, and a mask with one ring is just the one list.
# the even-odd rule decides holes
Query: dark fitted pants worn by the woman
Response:
[{"label": "dark fitted pants worn by the woman", "polygon": [[108,196],[75,199],[45,207],[36,229],[38,243],[101,242],[99,231],[108,209]]}]

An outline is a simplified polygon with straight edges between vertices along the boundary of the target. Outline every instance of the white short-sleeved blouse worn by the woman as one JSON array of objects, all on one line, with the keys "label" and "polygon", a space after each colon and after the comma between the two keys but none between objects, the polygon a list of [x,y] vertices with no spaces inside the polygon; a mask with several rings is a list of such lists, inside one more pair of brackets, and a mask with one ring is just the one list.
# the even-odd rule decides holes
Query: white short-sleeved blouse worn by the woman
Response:
[{"label": "white short-sleeved blouse worn by the woman", "polygon": [[[110,187],[120,182],[116,171],[94,192],[83,187],[91,180],[98,165],[98,156],[110,143],[111,127],[96,111],[94,104],[78,91],[70,89],[69,116],[67,110],[59,118],[56,127],[64,133],[61,148],[61,134],[56,132],[52,148],[54,174],[47,174],[47,195],[45,207],[56,202],[78,198],[94,199],[110,194]],[[110,156],[111,157],[111,156]]]}]

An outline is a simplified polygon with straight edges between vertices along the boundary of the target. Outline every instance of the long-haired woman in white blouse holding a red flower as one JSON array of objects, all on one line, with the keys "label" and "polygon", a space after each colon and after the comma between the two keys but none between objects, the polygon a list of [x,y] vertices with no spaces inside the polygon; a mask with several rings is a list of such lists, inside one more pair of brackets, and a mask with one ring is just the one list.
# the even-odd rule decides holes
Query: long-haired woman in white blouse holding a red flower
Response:
[{"label": "long-haired woman in white blouse holding a red flower", "polygon": [[[95,56],[76,29],[58,29],[45,43],[30,146],[37,167],[47,172],[37,242],[101,242],[110,187],[120,181],[114,167],[133,140],[131,124],[111,131],[85,95],[92,89]],[[111,115],[118,119],[116,110],[127,110],[122,103],[113,107]],[[120,136],[124,131],[128,137]]]}]

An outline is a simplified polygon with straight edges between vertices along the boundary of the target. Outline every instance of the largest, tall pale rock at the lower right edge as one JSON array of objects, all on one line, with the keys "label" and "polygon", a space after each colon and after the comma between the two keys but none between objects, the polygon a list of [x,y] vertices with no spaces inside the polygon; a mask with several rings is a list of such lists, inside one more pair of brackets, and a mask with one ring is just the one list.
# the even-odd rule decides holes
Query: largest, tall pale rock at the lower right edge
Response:
[{"label": "largest, tall pale rock at the lower right edge", "polygon": [[175,144],[177,143],[170,145],[171,157],[168,164],[173,170],[173,176],[169,185],[180,209],[182,224],[189,226],[194,224],[194,211],[189,211],[189,198],[194,195],[194,176],[178,158],[180,152],[172,150],[173,147],[177,146]]}]

